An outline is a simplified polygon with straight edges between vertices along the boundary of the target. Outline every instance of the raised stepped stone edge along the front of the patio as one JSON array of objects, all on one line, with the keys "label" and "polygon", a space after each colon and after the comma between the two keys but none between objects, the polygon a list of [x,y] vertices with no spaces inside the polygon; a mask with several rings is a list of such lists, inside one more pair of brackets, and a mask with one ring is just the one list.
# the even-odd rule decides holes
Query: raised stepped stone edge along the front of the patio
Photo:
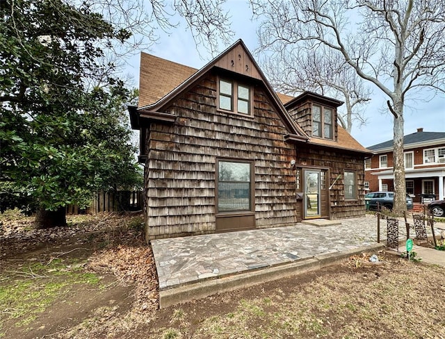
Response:
[{"label": "raised stepped stone edge along the front of the patio", "polygon": [[345,261],[350,258],[350,256],[362,254],[363,252],[380,251],[381,249],[385,249],[385,245],[382,243],[350,249],[348,251],[321,254],[293,263],[265,267],[264,269],[253,272],[234,274],[220,279],[205,280],[169,290],[161,290],[159,292],[159,308],[167,308],[169,306],[182,304],[186,301],[202,299],[210,295],[229,292],[239,288],[247,288],[258,285],[259,283],[266,283],[267,281],[282,279],[295,274],[320,270],[323,267]]}]

